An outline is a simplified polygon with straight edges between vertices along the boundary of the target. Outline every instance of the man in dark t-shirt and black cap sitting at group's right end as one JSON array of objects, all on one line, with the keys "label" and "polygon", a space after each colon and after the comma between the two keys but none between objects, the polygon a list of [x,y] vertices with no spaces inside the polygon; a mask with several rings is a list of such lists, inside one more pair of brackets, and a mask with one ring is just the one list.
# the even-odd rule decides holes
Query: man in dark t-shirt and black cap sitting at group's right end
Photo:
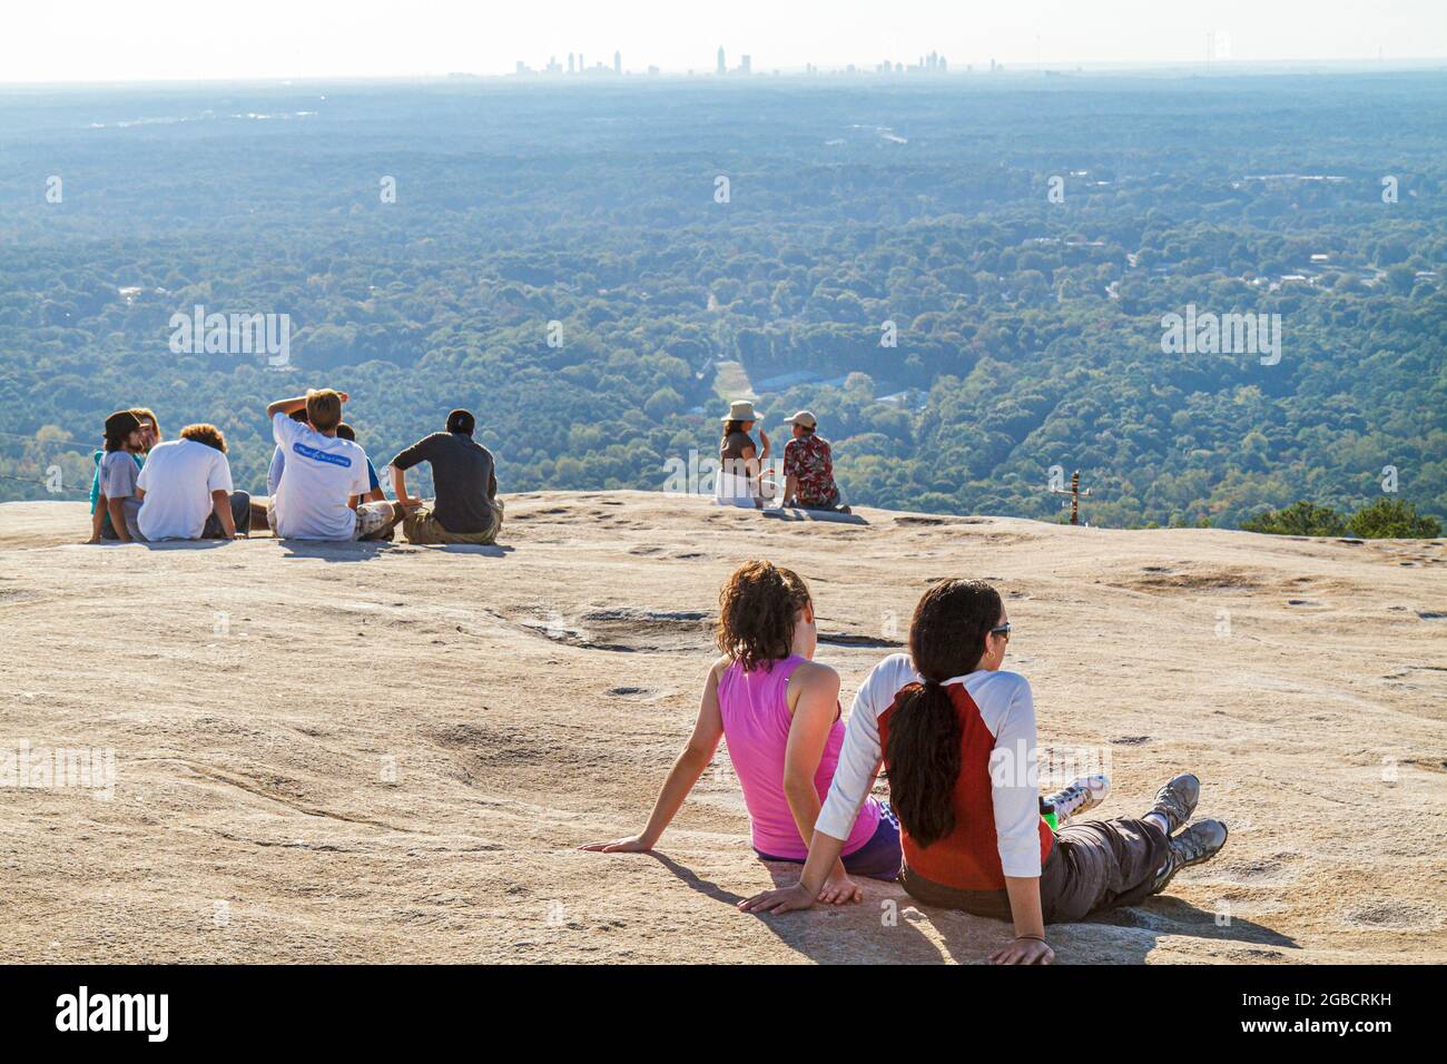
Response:
[{"label": "man in dark t-shirt and black cap sitting at group's right end", "polygon": [[[466,410],[447,415],[447,431],[424,436],[392,459],[392,488],[407,510],[408,543],[493,543],[502,528],[502,499],[492,453],[472,439],[476,418]],[[431,507],[407,494],[407,470],[433,466],[437,498]]]}]

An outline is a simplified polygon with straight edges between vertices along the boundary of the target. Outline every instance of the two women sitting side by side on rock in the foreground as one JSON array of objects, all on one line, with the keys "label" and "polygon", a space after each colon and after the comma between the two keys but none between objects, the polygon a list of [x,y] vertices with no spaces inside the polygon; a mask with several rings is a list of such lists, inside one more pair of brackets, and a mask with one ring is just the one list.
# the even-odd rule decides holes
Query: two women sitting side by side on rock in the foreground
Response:
[{"label": "two women sitting side by side on rock in the foreground", "polygon": [[[653,850],[726,738],[755,854],[803,866],[797,883],[741,909],[857,902],[851,876],[899,880],[923,905],[1011,921],[1014,940],[991,954],[996,963],[1048,964],[1046,924],[1136,905],[1226,845],[1224,824],[1191,822],[1201,783],[1189,773],[1168,780],[1142,816],[1049,819],[1030,683],[1001,669],[1010,618],[988,583],[930,586],[909,653],[874,667],[848,724],[839,675],[813,660],[818,641],[797,573],[768,562],[737,569],[719,595],[721,657],[647,824],[582,848]],[[871,793],[881,769],[887,802]]]}]

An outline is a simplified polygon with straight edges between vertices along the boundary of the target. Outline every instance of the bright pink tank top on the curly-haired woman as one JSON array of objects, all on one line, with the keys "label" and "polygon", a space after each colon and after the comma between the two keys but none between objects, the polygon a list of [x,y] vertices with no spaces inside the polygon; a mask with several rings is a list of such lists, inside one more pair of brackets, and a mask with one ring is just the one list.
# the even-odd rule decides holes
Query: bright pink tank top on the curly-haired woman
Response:
[{"label": "bright pink tank top on the curly-haired woman", "polygon": [[[805,662],[799,654],[771,662],[771,669],[760,666],[744,672],[734,662],[719,677],[719,711],[724,715],[724,738],[734,761],[744,805],[752,824],[754,848],[768,857],[802,861],[809,856],[809,843],[799,837],[799,825],[784,796],[784,750],[789,746],[789,677]],[[835,717],[829,740],[815,773],[815,789],[822,802],[829,793],[839,747],[844,746],[844,721]],[[880,824],[880,805],[867,798],[854,818],[854,829],[844,843],[844,853],[852,854],[874,835]]]}]

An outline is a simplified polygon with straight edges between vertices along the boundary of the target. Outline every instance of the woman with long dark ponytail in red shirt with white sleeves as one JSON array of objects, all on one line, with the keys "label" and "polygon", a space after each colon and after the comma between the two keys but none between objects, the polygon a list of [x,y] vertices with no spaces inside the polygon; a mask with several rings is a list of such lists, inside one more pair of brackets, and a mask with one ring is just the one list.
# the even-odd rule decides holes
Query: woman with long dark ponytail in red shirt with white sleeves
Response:
[{"label": "woman with long dark ponytail in red shirt with white sleeves", "polygon": [[941,580],[925,592],[909,654],[880,662],[855,695],[799,883],[739,908],[787,912],[815,903],[838,858],[841,825],[881,764],[900,821],[900,883],[925,905],[1013,921],[1014,941],[991,954],[1000,964],[1049,964],[1046,924],[1134,905],[1181,869],[1214,857],[1226,844],[1224,824],[1182,829],[1201,788],[1188,773],[1162,786],[1145,816],[1072,821],[1059,831],[1045,822],[1035,699],[1023,676],[1000,667],[1009,641],[1010,620],[988,583]]}]

